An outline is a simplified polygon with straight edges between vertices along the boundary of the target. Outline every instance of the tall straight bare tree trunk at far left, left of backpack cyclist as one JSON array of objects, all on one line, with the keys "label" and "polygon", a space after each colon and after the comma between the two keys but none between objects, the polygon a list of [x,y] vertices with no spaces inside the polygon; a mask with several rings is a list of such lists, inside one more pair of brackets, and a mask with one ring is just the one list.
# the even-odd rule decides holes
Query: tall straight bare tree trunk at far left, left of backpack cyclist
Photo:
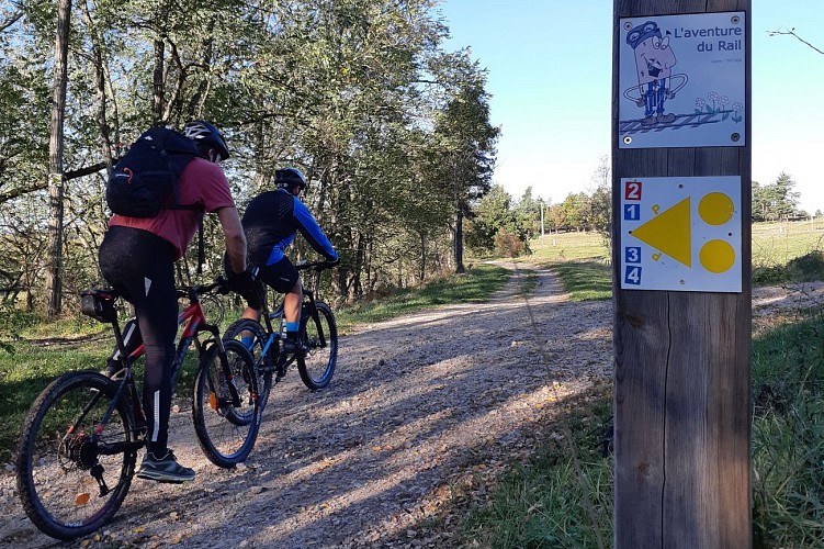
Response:
[{"label": "tall straight bare tree trunk at far left, left of backpack cyclist", "polygon": [[63,122],[66,114],[66,85],[69,52],[71,0],[57,5],[55,72],[52,86],[52,117],[48,139],[49,257],[46,269],[46,317],[54,320],[63,304]]}]

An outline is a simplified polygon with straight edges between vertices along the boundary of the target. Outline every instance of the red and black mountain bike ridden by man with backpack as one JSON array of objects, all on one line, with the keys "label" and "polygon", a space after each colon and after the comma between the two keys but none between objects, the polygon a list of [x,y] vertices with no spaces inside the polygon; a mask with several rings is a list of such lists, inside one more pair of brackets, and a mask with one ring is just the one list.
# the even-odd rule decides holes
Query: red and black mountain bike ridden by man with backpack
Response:
[{"label": "red and black mountain bike ridden by man with backpack", "polygon": [[[206,322],[200,296],[212,291],[225,292],[225,281],[178,288],[178,296],[190,304],[179,316],[183,329],[172,383],[194,343],[200,356],[194,430],[206,457],[232,468],[255,446],[262,408],[251,355],[237,341],[224,343],[217,327]],[[144,346],[126,351],[117,296],[113,290],[87,290],[81,310],[114,328],[122,376],[64,373],[34,401],[20,434],[16,480],[23,508],[37,528],[57,539],[89,535],[114,516],[132,483],[137,451],[146,445],[146,415],[133,371]],[[203,332],[210,337],[201,343]]]}]

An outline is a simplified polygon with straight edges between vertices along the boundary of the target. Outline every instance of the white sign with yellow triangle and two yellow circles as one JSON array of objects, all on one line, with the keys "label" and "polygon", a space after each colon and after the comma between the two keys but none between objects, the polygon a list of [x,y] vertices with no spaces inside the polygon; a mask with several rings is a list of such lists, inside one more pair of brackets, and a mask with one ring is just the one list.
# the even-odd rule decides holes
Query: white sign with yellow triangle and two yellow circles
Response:
[{"label": "white sign with yellow triangle and two yellow circles", "polygon": [[741,292],[741,177],[621,179],[621,289]]}]

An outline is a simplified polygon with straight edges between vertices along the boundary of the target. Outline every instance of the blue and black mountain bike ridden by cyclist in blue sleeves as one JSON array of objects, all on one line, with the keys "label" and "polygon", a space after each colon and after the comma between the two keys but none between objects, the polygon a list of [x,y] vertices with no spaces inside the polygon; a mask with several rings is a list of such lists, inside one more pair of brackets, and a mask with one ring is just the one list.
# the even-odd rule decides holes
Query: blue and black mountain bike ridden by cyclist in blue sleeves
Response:
[{"label": "blue and black mountain bike ridden by cyclist in blue sleeves", "polygon": [[[302,262],[295,265],[298,271],[314,269],[320,272],[331,267],[327,261]],[[292,363],[297,365],[303,383],[313,391],[329,384],[335,373],[338,360],[338,326],[331,307],[315,299],[315,292],[303,289],[303,304],[301,306],[300,338],[308,348],[308,352],[289,354],[283,349],[286,323],[283,318],[283,300],[274,312],[270,312],[267,290],[263,292],[263,309],[261,322],[251,318],[235,321],[224,332],[224,340],[241,340],[255,358],[255,371],[258,373],[261,408],[269,400],[272,389],[272,377],[278,383],[286,374]]]}]

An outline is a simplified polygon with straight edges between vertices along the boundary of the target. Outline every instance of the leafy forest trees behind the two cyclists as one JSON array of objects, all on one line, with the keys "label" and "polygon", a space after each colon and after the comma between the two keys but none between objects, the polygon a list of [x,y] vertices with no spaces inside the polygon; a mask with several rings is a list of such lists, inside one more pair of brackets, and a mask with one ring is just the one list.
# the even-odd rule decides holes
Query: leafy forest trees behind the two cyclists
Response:
[{"label": "leafy forest trees behind the two cyclists", "polygon": [[[208,120],[242,211],[293,165],[342,261],[340,300],[463,269],[499,128],[436,0],[21,0],[0,8],[0,303],[54,318],[102,283],[113,164],[153,125]],[[181,282],[221,272],[206,257]],[[298,239],[300,240],[300,239]],[[306,254],[297,246],[294,258]]]}]

